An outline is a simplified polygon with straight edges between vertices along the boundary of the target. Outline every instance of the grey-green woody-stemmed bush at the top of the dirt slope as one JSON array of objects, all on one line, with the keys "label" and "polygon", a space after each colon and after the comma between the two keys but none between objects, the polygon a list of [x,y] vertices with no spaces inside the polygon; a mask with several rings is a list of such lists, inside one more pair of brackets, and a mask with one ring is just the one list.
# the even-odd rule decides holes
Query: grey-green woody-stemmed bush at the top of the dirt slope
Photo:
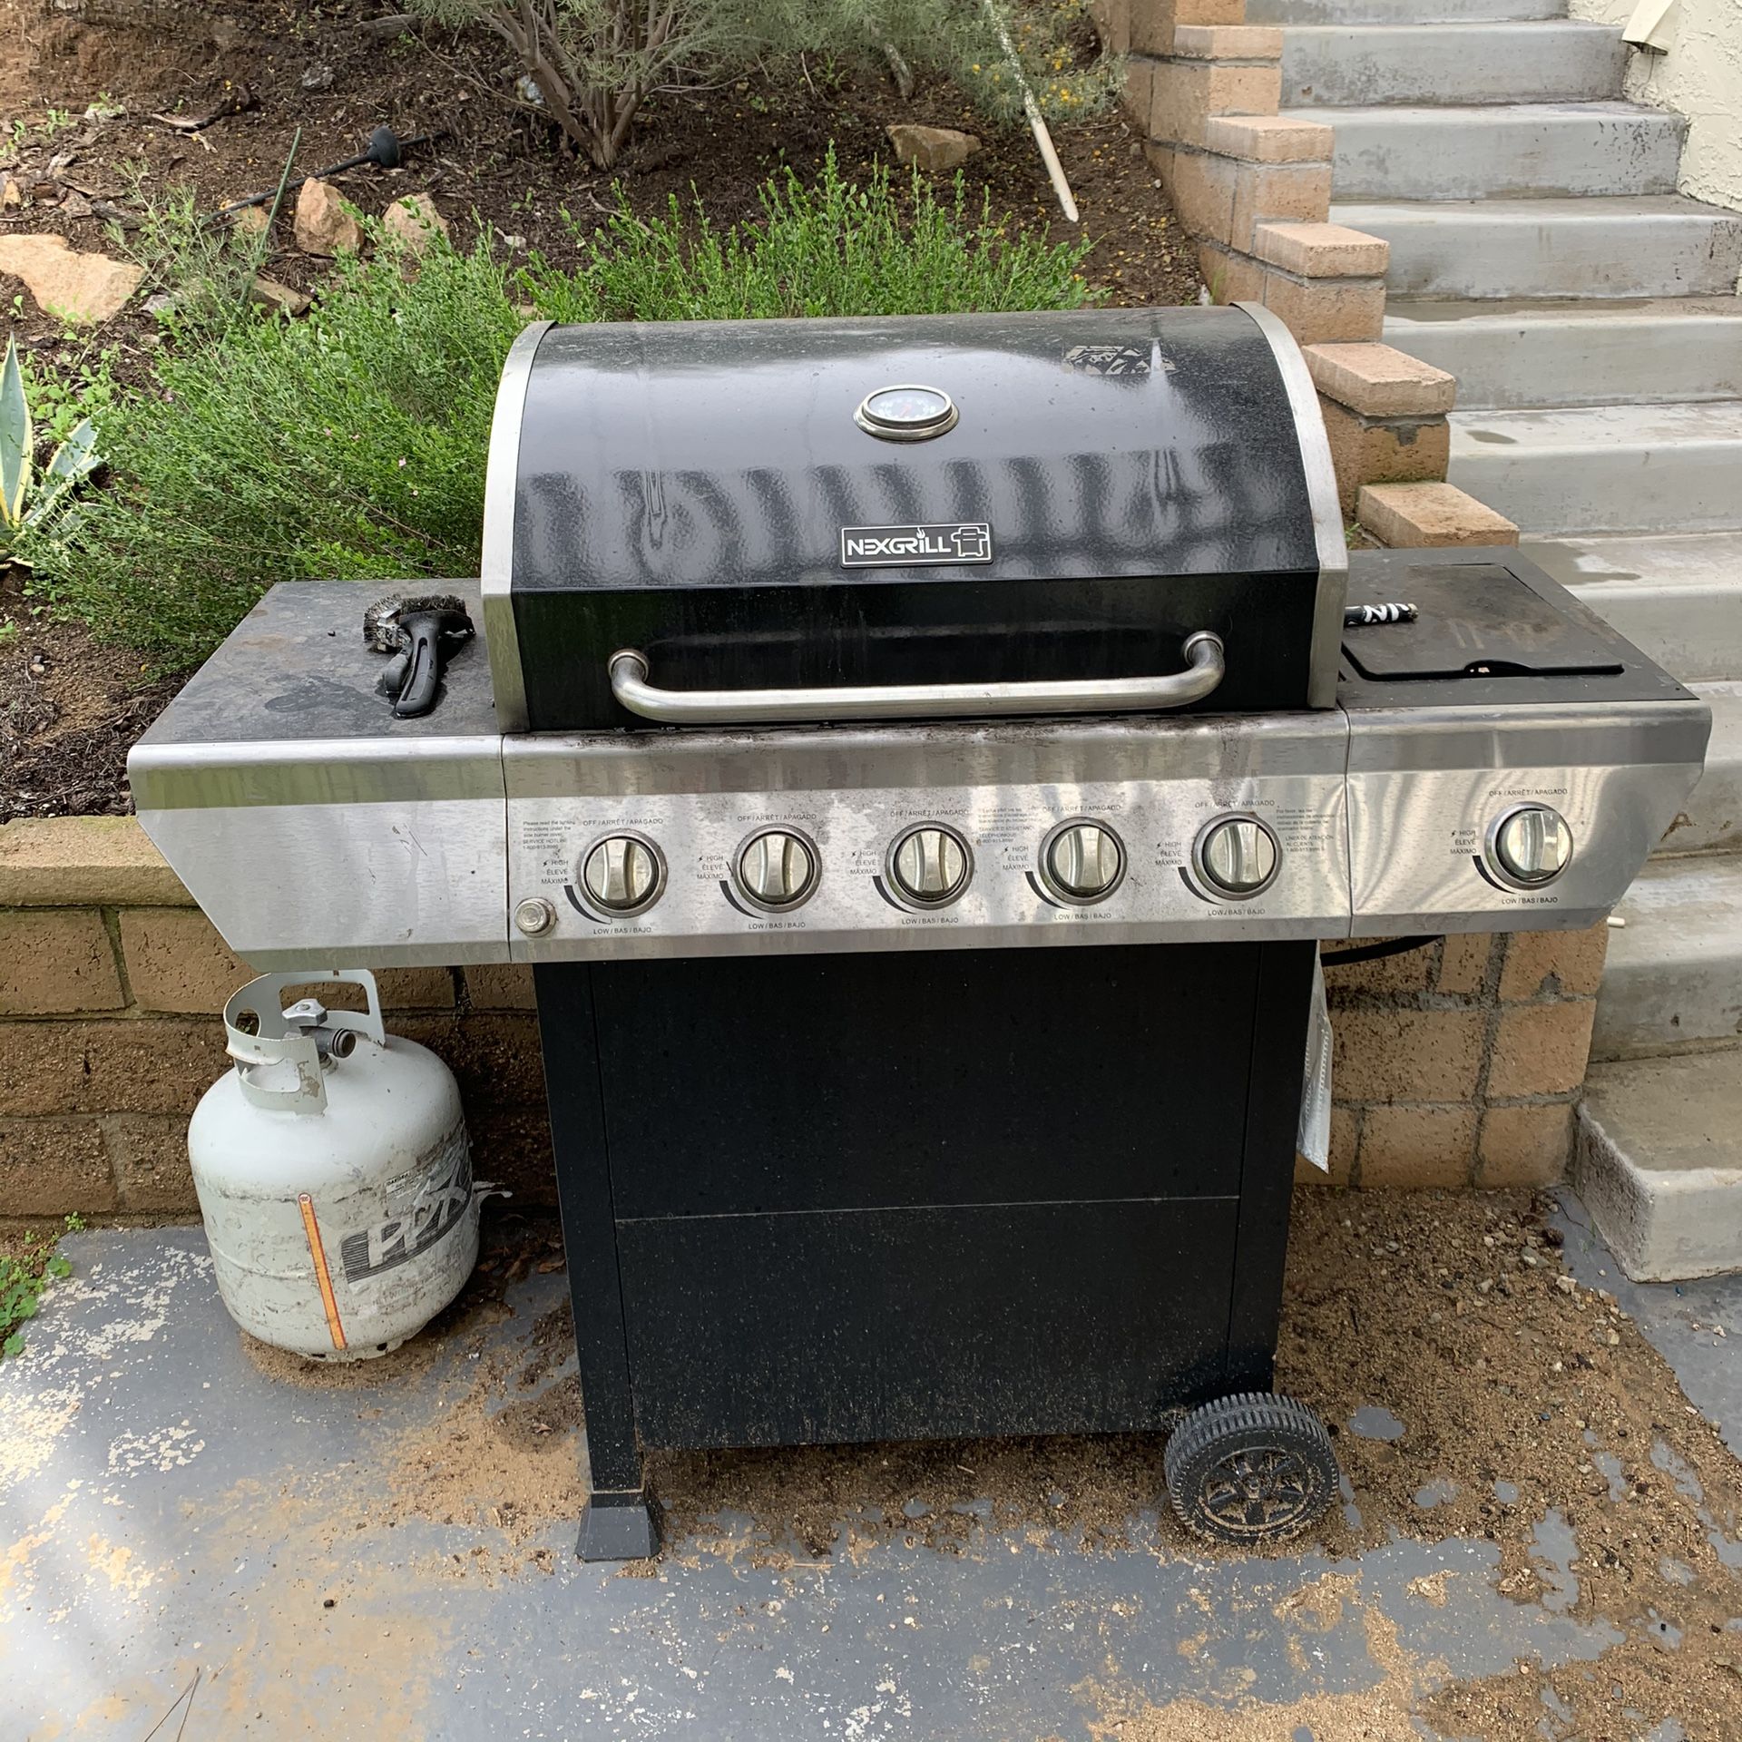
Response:
[{"label": "grey-green woody-stemmed bush at the top of the dirt slope", "polygon": [[[1000,10],[1003,0],[991,0]],[[1021,115],[986,0],[411,0],[448,24],[483,24],[521,68],[517,103],[554,122],[577,152],[610,169],[629,125],[657,92],[800,54],[880,64],[894,51],[958,78],[988,115]],[[1040,0],[1007,19],[1036,101],[1084,115],[1118,87],[1108,56],[1078,64],[1092,42],[1087,0]]]}]

